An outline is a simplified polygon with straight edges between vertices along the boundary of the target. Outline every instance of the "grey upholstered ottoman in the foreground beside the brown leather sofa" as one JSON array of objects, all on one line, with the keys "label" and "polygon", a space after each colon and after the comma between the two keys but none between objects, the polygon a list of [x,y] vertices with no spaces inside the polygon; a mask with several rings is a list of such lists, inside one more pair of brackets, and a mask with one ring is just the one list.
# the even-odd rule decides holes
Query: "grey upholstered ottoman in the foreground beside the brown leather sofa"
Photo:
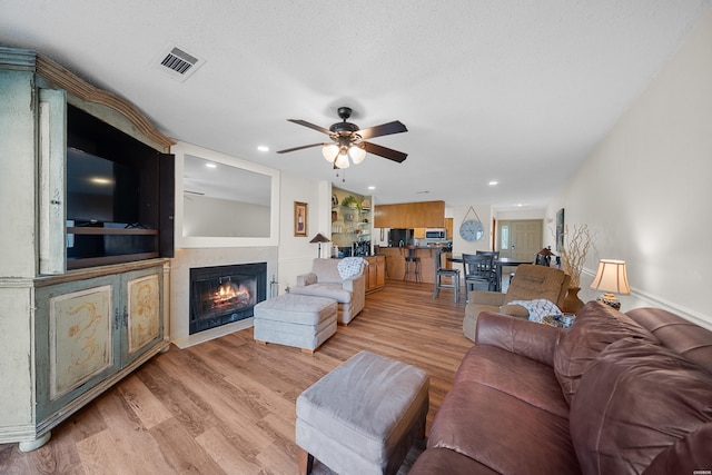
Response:
[{"label": "grey upholstered ottoman in the foreground beside the brown leather sofa", "polygon": [[425,372],[360,352],[297,398],[299,473],[314,459],[339,475],[395,474],[425,438]]}]

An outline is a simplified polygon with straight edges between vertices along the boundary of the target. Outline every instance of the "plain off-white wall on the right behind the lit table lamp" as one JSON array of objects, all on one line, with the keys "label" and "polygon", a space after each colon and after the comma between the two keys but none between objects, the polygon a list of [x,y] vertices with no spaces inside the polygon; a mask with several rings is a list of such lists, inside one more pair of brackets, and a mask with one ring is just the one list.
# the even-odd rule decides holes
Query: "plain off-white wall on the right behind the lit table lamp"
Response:
[{"label": "plain off-white wall on the right behind the lit table lamp", "polygon": [[[668,307],[712,328],[711,180],[708,13],[550,205],[545,222],[563,207],[568,226],[589,225],[589,274],[600,258],[627,263],[633,296],[621,298],[624,310]],[[591,281],[584,277],[582,287]]]}]

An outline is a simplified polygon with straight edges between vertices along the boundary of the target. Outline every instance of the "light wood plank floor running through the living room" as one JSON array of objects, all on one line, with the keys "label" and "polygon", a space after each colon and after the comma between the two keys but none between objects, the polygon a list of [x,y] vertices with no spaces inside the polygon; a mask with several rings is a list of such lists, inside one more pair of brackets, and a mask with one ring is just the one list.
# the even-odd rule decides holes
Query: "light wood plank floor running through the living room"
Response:
[{"label": "light wood plank floor running through the living room", "polygon": [[247,329],[152,358],[23,454],[0,445],[0,474],[294,474],[297,396],[362,349],[431,376],[429,431],[472,347],[464,303],[388,280],[314,356],[257,345]]}]

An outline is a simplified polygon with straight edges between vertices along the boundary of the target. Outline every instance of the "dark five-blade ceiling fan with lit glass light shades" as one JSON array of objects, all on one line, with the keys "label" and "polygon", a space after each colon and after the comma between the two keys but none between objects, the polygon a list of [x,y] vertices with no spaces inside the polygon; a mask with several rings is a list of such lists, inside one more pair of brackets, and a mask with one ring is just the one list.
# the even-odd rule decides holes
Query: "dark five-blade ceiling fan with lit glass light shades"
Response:
[{"label": "dark five-blade ceiling fan with lit glass light shades", "polygon": [[366,152],[397,161],[398,164],[405,160],[408,156],[402,151],[366,141],[366,139],[372,139],[374,137],[407,132],[408,129],[406,129],[399,120],[369,127],[367,129],[359,129],[357,125],[346,121],[352,116],[352,109],[349,107],[339,107],[337,111],[342,121],[334,123],[328,129],[307,122],[306,120],[287,119],[290,122],[326,133],[332,139],[330,144],[310,144],[301,147],[279,150],[277,154],[287,154],[305,148],[323,146],[322,155],[329,164],[334,165],[334,168],[348,168],[350,165],[349,158],[354,164],[360,164],[364,161],[364,158],[366,158]]}]

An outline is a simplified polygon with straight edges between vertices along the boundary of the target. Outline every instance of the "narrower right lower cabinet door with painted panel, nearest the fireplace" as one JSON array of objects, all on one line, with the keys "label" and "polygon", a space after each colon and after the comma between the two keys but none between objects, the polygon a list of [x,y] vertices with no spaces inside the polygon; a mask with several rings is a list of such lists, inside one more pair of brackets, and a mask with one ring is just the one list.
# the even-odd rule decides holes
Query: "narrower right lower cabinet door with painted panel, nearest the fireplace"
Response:
[{"label": "narrower right lower cabinet door with painted panel, nearest the fireplace", "polygon": [[164,338],[164,268],[136,270],[122,276],[121,367]]}]

